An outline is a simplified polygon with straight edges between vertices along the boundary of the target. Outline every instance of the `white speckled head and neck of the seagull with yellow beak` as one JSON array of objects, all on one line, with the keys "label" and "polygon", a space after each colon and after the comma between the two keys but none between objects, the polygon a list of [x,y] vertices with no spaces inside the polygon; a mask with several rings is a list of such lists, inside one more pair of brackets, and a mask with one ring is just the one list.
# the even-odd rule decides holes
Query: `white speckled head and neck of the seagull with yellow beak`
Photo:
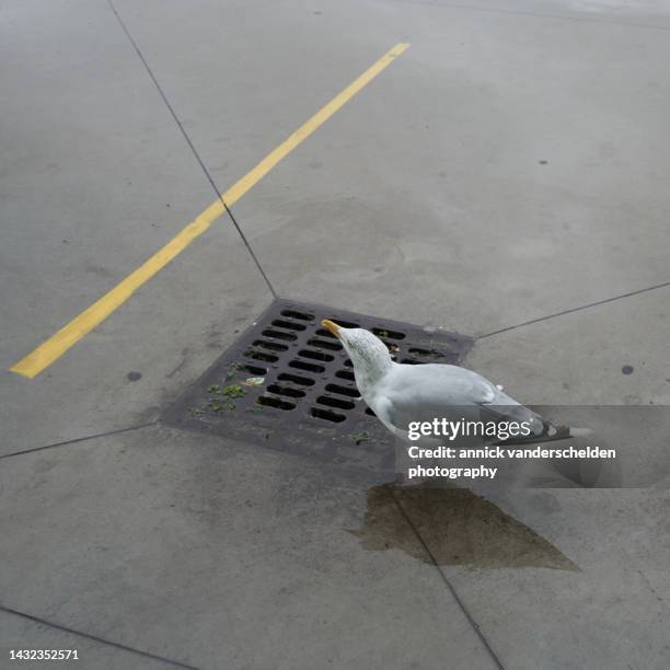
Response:
[{"label": "white speckled head and neck of the seagull with yellow beak", "polygon": [[321,325],[339,339],[354,363],[356,383],[361,393],[366,386],[381,379],[393,366],[386,345],[369,331],[343,328],[330,319],[324,319]]}]

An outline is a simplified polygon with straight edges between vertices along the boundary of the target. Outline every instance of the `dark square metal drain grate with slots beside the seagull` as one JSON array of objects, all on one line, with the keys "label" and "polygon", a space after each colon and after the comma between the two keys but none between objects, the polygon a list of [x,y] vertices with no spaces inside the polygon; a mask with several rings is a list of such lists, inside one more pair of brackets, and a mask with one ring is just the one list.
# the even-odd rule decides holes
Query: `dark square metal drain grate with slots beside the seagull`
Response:
[{"label": "dark square metal drain grate with slots beside the seagull", "polygon": [[393,436],[360,397],[351,361],[321,326],[367,328],[403,363],[459,365],[470,337],[288,300],[261,317],[165,413],[175,427],[366,470],[393,471]]}]

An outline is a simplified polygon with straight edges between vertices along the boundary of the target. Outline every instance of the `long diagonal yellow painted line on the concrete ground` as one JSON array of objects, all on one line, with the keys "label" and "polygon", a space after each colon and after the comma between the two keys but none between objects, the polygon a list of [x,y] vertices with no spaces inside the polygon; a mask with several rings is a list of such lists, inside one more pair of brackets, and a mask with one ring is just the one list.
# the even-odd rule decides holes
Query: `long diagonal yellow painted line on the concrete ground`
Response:
[{"label": "long diagonal yellow painted line on the concrete ground", "polygon": [[[338,93],[328,104],[323,106],[310,120],[300,126],[274,151],[268,153],[253,170],[247,172],[240,181],[231,186],[224,194],[223,200],[232,207],[244,194],[257,184],[282,158],[288,155],[296,147],[303,142],[316,128],[324,124],[337,109],[358,93],[366,84],[372,81],[382,70],[409,47],[406,43],[396,44],[386,51],[377,62],[370,66],[358,79],[353,81],[344,91]],[[165,246],[158,251],[134,273],[117,284],[109,292],[76,316],[60,331],[51,335],[34,351],[22,358],[10,368],[11,372],[33,379],[55,360],[60,358],[71,346],[102,323],[114,310],[119,308],[140,286],[151,279],[170,261],[181,254],[196,238],[201,235],[223,212],[226,208],[221,200],[215,200],[207,209],[200,212],[186,228],[177,233]]]}]

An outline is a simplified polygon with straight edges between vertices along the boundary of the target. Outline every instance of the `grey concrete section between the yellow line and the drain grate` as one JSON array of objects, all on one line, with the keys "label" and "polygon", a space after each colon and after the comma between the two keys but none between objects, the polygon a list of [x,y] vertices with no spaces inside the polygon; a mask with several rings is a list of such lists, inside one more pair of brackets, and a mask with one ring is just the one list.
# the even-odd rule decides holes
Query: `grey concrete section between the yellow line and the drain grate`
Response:
[{"label": "grey concrete section between the yellow line and the drain grate", "polygon": [[270,297],[230,229],[206,234],[48,371],[3,377],[2,453],[157,419],[250,325]]}]

